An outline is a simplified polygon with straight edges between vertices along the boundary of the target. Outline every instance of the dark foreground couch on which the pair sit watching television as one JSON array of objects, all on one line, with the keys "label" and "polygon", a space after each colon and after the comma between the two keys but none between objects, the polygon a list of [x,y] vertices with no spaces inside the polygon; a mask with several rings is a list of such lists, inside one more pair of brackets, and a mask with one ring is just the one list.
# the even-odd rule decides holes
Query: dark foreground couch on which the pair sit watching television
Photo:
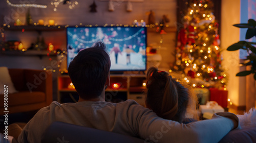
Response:
[{"label": "dark foreground couch on which the pair sit watching television", "polygon": [[[63,122],[52,123],[42,137],[41,143],[56,142],[122,142],[142,143],[143,139],[122,135],[118,133],[102,131],[98,129],[72,125]],[[219,143],[254,143],[256,142],[256,127],[246,127],[240,130],[232,130],[224,136]]]}]

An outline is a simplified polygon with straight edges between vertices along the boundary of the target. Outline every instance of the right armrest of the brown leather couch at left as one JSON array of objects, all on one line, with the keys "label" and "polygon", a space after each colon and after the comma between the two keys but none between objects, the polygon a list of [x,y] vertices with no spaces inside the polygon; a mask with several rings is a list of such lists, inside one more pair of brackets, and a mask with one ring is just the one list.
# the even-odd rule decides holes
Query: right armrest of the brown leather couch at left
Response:
[{"label": "right armrest of the brown leather couch at left", "polygon": [[25,84],[30,91],[41,91],[46,94],[46,106],[52,103],[52,73],[44,70],[25,69]]}]

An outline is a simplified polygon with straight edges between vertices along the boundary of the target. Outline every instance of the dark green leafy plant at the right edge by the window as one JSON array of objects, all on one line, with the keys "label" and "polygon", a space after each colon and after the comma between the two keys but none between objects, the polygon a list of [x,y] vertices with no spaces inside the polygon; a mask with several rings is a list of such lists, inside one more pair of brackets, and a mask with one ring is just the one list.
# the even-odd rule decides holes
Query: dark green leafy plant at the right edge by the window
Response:
[{"label": "dark green leafy plant at the right edge by the window", "polygon": [[[248,23],[240,23],[233,25],[238,28],[247,28],[245,39],[250,39],[253,36],[256,37],[256,21],[249,19]],[[247,59],[242,63],[243,66],[251,66],[251,70],[245,70],[238,73],[236,76],[247,76],[254,74],[254,80],[256,80],[256,42],[239,41],[230,45],[227,51],[246,50],[248,53]]]}]

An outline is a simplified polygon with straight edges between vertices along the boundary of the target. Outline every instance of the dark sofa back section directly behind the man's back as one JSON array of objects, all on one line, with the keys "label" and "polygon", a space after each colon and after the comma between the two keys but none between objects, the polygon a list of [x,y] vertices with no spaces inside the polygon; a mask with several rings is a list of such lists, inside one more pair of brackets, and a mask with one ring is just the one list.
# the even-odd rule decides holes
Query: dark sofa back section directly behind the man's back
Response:
[{"label": "dark sofa back section directly behind the man's back", "polygon": [[45,131],[41,143],[56,142],[143,143],[144,140],[114,132],[82,127],[63,122],[54,122]]}]

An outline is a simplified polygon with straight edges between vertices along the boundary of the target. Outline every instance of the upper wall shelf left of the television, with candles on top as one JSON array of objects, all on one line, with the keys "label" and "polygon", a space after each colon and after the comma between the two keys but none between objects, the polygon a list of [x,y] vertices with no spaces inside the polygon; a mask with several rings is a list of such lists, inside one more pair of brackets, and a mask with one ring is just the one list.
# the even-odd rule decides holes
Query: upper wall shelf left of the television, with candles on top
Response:
[{"label": "upper wall shelf left of the television, with candles on top", "polygon": [[[65,30],[63,26],[6,26],[5,30],[10,31],[62,31]],[[24,30],[24,31],[23,31]]]}]

